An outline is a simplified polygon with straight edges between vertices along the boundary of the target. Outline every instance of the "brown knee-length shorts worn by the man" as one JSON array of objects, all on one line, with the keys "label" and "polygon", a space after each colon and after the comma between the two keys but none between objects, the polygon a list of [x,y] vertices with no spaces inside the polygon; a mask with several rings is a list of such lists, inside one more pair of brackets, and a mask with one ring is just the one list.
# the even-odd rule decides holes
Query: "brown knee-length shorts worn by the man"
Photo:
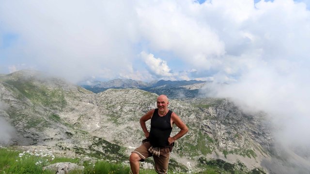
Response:
[{"label": "brown knee-length shorts worn by the man", "polygon": [[[155,171],[158,174],[167,174],[170,159],[170,148],[151,148],[150,142],[144,142],[140,147],[131,153],[136,153],[144,161],[146,158],[153,157],[155,162]],[[150,150],[149,150],[150,149]],[[152,152],[152,153],[151,153]]]}]

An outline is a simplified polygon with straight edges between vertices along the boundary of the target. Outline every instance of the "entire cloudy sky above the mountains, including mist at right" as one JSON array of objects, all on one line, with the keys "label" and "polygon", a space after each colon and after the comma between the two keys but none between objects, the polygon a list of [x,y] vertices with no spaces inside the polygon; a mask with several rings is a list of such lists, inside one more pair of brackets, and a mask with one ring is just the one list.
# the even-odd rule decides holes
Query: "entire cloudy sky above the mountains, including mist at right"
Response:
[{"label": "entire cloudy sky above the mountains, including mist at right", "polygon": [[21,69],[226,83],[209,95],[310,146],[310,0],[0,0],[0,74]]}]

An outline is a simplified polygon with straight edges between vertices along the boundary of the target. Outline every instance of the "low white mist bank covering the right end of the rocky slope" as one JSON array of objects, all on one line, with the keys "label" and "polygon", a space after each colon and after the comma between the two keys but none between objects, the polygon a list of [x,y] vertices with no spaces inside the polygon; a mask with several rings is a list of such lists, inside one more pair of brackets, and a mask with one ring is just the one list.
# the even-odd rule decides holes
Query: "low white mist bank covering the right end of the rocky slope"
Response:
[{"label": "low white mist bank covering the right end of the rocky slope", "polygon": [[[208,95],[228,97],[246,112],[264,111],[267,113],[273,124],[275,148],[278,152],[280,149],[289,152],[288,155],[282,156],[286,157],[286,162],[273,161],[277,163],[277,166],[285,165],[285,168],[289,169],[287,171],[296,173],[296,171],[310,168],[309,74],[308,64],[287,60],[259,63],[229,84],[215,84]],[[298,160],[292,158],[296,155],[292,155],[291,151],[302,158]],[[305,162],[300,163],[301,159]],[[295,164],[299,167],[294,167]],[[278,171],[266,163],[264,165],[274,172]]]}]

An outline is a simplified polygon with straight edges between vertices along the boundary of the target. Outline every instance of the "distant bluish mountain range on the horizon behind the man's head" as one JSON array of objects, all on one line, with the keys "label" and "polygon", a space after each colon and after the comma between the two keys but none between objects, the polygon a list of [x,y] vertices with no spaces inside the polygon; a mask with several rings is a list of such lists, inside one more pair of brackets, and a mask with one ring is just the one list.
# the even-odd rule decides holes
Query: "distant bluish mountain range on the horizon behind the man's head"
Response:
[{"label": "distant bluish mountain range on the horizon behind the man's head", "polygon": [[80,86],[92,91],[100,93],[110,88],[126,89],[138,88],[144,91],[155,93],[157,95],[165,94],[169,98],[195,98],[200,96],[199,89],[211,83],[210,81],[200,80],[159,80],[153,82],[143,82],[132,79],[113,79],[107,82],[94,81],[92,84],[81,83]]}]

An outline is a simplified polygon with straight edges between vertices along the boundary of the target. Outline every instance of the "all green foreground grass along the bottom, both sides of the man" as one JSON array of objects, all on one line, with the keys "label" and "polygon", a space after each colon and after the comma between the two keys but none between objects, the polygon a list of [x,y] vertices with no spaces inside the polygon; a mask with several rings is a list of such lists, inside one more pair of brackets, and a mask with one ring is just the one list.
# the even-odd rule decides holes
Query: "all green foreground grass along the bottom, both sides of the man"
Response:
[{"label": "all green foreground grass along the bottom, both sides of the man", "polygon": [[[172,160],[172,159],[171,159]],[[0,174],[54,174],[53,171],[43,167],[57,162],[71,162],[83,166],[84,170],[73,170],[69,174],[130,174],[130,166],[125,163],[111,163],[109,160],[81,161],[80,158],[55,157],[48,150],[20,151],[12,147],[0,146]],[[221,159],[206,160],[200,158],[199,162],[205,169],[192,174],[264,174],[263,170],[256,169],[248,172],[245,165],[227,163]],[[170,161],[168,174],[186,174],[186,172],[173,171],[173,160]],[[237,168],[243,170],[237,170]],[[257,173],[261,172],[261,173]],[[140,174],[156,174],[154,169],[140,169]]]}]

